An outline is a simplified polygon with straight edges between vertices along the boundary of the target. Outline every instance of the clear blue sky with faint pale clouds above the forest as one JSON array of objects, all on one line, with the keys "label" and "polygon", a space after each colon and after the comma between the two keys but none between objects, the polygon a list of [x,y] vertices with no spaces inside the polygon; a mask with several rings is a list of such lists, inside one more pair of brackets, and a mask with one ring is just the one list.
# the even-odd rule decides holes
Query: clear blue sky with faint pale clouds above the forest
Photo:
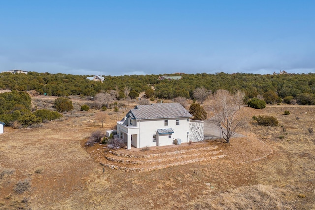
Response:
[{"label": "clear blue sky with faint pale clouds above the forest", "polygon": [[0,0],[0,72],[315,72],[314,0]]}]

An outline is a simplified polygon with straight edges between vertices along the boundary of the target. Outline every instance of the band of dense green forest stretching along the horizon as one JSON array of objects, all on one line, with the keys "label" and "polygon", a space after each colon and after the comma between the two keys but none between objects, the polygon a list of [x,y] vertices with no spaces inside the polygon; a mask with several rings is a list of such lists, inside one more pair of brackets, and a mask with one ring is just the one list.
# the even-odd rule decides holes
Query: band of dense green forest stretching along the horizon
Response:
[{"label": "band of dense green forest stretching along the horizon", "polygon": [[[81,95],[94,97],[97,93],[110,93],[117,99],[128,97],[129,93],[150,92],[160,99],[184,97],[194,99],[194,90],[204,88],[210,93],[219,89],[231,93],[241,90],[246,100],[258,96],[266,97],[267,103],[281,99],[295,100],[300,104],[315,104],[315,74],[185,74],[180,80],[158,80],[159,75],[104,76],[105,81],[87,80],[88,75],[50,74],[29,72],[28,74],[0,74],[0,89],[29,91],[48,96]],[[150,90],[151,91],[151,90]],[[149,91],[148,91],[149,92]],[[149,93],[148,93],[149,94]],[[278,98],[275,98],[275,95]],[[289,102],[291,101],[289,100]],[[286,100],[287,101],[287,100]],[[294,101],[293,101],[294,102]]]}]

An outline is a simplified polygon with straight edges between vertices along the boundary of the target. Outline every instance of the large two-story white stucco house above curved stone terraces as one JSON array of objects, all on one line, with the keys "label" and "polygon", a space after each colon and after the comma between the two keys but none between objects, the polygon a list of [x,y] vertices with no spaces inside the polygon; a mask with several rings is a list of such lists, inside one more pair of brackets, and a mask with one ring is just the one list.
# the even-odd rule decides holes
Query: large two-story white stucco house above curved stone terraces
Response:
[{"label": "large two-story white stucco house above curved stone terraces", "polygon": [[117,122],[117,137],[136,148],[202,141],[203,121],[190,120],[192,115],[179,103],[138,105]]}]

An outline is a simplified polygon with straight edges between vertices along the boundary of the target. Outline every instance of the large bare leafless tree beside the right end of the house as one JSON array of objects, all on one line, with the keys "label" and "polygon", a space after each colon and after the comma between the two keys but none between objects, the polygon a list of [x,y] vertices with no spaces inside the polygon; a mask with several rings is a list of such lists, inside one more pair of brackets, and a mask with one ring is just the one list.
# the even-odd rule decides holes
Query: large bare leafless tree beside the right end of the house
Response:
[{"label": "large bare leafless tree beside the right end of the house", "polygon": [[232,95],[229,91],[220,89],[212,96],[212,104],[209,107],[214,115],[210,120],[219,126],[227,143],[246,125],[246,118],[239,109],[242,104],[240,95],[242,93]]}]

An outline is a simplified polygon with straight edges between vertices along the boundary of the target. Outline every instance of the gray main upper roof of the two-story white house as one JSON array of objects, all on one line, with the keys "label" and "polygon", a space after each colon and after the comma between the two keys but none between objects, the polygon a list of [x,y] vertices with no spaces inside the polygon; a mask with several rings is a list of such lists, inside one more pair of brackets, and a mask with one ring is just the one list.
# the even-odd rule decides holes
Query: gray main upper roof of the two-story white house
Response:
[{"label": "gray main upper roof of the two-story white house", "polygon": [[[189,118],[192,115],[179,103],[138,105],[130,110],[135,119]],[[129,112],[129,113],[130,113]]]}]

